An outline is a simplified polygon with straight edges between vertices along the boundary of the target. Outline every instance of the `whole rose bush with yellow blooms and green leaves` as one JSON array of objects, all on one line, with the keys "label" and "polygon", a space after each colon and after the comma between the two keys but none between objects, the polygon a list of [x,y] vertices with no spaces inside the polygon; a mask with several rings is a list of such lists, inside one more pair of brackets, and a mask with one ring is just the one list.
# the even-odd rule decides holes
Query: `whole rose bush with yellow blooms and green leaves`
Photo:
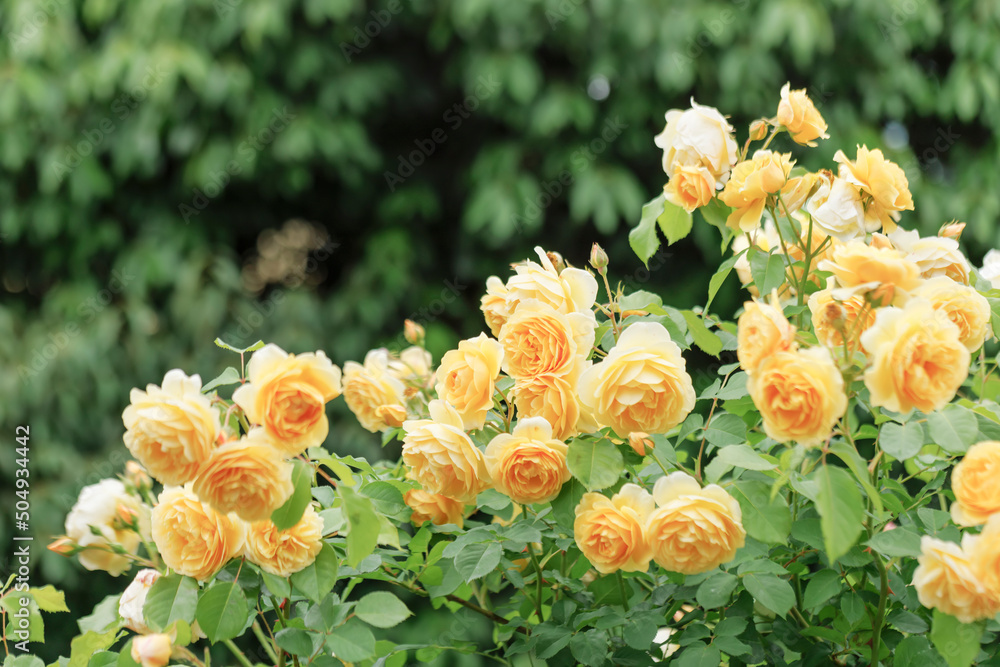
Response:
[{"label": "whole rose bush with yellow blooms and green leaves", "polygon": [[[240,637],[276,665],[996,662],[995,270],[960,223],[900,226],[913,199],[880,150],[797,167],[827,129],[788,85],[742,144],[716,109],[667,112],[667,183],[629,241],[646,262],[699,211],[732,252],[703,307],[612,287],[597,246],[592,270],[539,248],[437,367],[408,322],[411,347],[343,373],[261,343],[205,386],[134,390],[125,445],[164,488],[130,465],[51,545],[144,568],[69,664],[201,666],[207,642],[253,665]],[[757,297],[735,323],[711,310],[734,269]],[[341,394],[399,460],[324,448]],[[399,596],[480,614],[492,644],[392,641]],[[40,628],[57,597],[20,599]]]}]

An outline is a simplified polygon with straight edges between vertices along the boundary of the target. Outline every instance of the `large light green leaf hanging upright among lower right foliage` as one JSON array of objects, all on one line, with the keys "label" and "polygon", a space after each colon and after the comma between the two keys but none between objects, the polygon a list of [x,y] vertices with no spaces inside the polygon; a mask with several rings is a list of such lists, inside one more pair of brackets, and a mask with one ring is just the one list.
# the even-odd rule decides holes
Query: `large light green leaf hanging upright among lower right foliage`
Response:
[{"label": "large light green leaf hanging upright among lower right foliage", "polygon": [[823,464],[813,479],[819,485],[816,509],[826,555],[832,563],[858,541],[865,517],[864,501],[854,478],[843,468]]}]

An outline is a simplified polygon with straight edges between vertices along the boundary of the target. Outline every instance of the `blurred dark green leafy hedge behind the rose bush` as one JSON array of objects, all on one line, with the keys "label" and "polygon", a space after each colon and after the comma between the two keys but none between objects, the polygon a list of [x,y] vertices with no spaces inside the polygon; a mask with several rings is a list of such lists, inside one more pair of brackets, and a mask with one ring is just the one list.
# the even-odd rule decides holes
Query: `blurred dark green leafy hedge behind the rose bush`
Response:
[{"label": "blurred dark green leafy hedge behind the rose bush", "polygon": [[[213,377],[232,359],[211,340],[262,303],[248,343],[342,364],[398,346],[412,317],[437,358],[482,329],[487,276],[536,244],[583,265],[593,241],[613,277],[703,302],[715,230],[651,275],[626,240],[664,181],[652,137],[691,96],[742,138],[782,84],[807,87],[831,146],[880,146],[906,169],[904,226],[964,220],[974,260],[998,244],[992,0],[7,0],[0,33],[0,474],[30,425],[34,576],[81,614],[124,582],[41,546],[81,486],[121,470],[128,390],[173,367]],[[588,95],[599,77],[606,99]],[[287,126],[248,149],[275,114]],[[390,187],[435,130],[445,141]],[[202,210],[181,208],[231,162]],[[329,234],[318,284],[248,293],[241,265],[290,218]],[[715,308],[741,300],[729,284]],[[331,409],[333,447],[381,456]],[[57,625],[59,648],[73,628]]]}]

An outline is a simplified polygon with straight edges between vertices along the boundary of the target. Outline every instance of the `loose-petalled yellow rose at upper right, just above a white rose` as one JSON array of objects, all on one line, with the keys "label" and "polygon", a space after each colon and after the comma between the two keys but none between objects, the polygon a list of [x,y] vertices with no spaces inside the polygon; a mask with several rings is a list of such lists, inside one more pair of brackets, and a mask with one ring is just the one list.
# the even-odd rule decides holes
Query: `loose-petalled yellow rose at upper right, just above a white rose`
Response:
[{"label": "loose-petalled yellow rose at upper right, just above a white rose", "polygon": [[866,225],[873,225],[877,220],[891,232],[896,228],[899,211],[913,210],[906,174],[899,165],[886,160],[879,149],[869,151],[867,146],[858,146],[854,162],[847,159],[844,151],[837,151],[833,159],[840,163],[840,177],[861,189]]}]

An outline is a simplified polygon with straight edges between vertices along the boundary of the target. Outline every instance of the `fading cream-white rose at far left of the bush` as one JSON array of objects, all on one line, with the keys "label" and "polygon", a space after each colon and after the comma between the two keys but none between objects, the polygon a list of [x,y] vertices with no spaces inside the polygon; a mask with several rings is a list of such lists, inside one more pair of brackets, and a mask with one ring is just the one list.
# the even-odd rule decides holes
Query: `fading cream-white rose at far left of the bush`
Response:
[{"label": "fading cream-white rose at far left of the bush", "polygon": [[[140,532],[122,523],[123,508],[138,517]],[[91,527],[100,535],[95,535]],[[66,536],[83,548],[78,555],[80,564],[115,577],[132,567],[132,561],[128,556],[114,553],[113,547],[120,546],[133,555],[138,553],[142,543],[140,533],[149,534],[149,508],[127,493],[125,485],[117,479],[104,479],[83,487],[66,516]]]}]

